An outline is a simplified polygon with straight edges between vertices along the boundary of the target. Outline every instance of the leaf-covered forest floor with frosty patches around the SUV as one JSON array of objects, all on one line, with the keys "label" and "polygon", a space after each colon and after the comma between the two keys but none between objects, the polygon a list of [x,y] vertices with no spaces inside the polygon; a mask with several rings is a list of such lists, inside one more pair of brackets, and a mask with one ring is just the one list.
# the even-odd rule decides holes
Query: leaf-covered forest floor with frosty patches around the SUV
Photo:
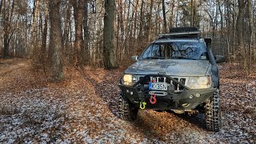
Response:
[{"label": "leaf-covered forest floor with frosty patches around the SUV", "polygon": [[140,110],[118,118],[118,80],[125,68],[65,68],[47,81],[25,59],[0,60],[0,143],[255,143],[256,74],[220,67],[222,130],[207,131],[204,114]]}]

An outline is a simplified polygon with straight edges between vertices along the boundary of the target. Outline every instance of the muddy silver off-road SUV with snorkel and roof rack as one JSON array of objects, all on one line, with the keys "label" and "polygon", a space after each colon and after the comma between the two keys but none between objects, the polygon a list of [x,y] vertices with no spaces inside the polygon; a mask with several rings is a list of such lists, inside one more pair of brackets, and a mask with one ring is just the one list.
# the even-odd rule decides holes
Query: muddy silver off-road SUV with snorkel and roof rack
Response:
[{"label": "muddy silver off-road SUV with snorkel and roof rack", "polygon": [[206,128],[221,128],[218,66],[224,57],[213,55],[210,38],[193,27],[171,28],[159,34],[125,70],[118,85],[119,116],[135,120],[139,109],[205,112]]}]

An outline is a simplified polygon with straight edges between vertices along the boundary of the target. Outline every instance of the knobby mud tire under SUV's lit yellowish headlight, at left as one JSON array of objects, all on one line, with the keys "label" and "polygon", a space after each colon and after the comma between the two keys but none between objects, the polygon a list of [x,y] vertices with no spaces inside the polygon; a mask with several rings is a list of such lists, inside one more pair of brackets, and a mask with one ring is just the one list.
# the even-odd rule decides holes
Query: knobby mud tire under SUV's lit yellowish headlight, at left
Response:
[{"label": "knobby mud tire under SUV's lit yellowish headlight, at left", "polygon": [[137,119],[138,108],[132,106],[128,100],[122,97],[122,94],[119,96],[118,111],[119,118],[123,120],[134,121]]}]

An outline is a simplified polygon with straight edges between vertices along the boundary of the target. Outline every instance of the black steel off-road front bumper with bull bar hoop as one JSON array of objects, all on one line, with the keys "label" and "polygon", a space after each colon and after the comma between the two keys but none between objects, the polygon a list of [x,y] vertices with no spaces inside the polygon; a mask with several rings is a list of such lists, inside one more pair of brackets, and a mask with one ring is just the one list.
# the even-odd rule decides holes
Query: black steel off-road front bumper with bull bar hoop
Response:
[{"label": "black steel off-road front bumper with bull bar hoop", "polygon": [[[168,86],[168,89],[164,91],[165,96],[156,94],[157,102],[151,104],[151,95],[149,94],[151,90],[146,87],[146,78],[158,76],[170,78],[172,81],[178,83],[178,85],[184,87],[184,90],[181,92],[174,92],[174,86],[170,85]],[[140,102],[146,102],[146,109],[156,110],[193,110],[196,106],[205,102],[216,90],[216,88],[190,89],[170,76],[158,74],[148,74],[133,86],[124,86],[122,84],[119,84],[118,86],[122,90],[122,96],[129,99],[134,106],[139,107]],[[162,91],[159,90],[159,92]]]}]

